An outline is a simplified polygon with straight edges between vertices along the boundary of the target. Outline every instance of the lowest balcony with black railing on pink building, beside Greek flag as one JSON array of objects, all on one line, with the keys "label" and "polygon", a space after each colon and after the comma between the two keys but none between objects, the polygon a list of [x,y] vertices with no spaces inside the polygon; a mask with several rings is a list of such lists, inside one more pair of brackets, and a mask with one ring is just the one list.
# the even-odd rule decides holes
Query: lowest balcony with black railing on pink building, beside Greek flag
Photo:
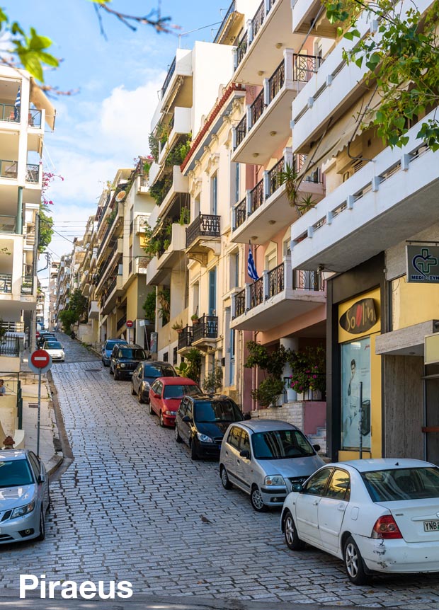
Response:
[{"label": "lowest balcony with black railing on pink building, beside Greek flag", "polygon": [[325,303],[321,275],[292,270],[290,258],[285,258],[274,269],[264,271],[259,280],[234,294],[230,328],[270,330]]}]

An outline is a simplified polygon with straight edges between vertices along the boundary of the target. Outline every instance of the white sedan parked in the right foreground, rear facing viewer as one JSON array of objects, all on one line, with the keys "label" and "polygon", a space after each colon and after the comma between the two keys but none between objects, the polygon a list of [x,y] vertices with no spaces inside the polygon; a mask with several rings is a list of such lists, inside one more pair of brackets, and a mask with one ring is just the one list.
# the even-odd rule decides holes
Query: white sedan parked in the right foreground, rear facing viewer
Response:
[{"label": "white sedan parked in the right foreground, rear facing viewer", "polygon": [[287,546],[343,558],[354,585],[373,572],[439,572],[439,468],[413,459],[327,464],[292,486],[281,515]]}]

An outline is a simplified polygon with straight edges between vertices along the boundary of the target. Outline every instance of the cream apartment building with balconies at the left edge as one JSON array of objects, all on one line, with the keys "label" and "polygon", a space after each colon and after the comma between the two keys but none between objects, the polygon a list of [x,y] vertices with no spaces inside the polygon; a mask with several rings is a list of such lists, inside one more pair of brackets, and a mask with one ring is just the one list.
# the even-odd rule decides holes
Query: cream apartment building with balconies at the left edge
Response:
[{"label": "cream apartment building with balconies at the left edge", "polygon": [[[55,109],[24,70],[0,67],[0,303],[8,330],[35,341],[38,210],[45,127]],[[23,335],[24,336],[24,335]]]}]

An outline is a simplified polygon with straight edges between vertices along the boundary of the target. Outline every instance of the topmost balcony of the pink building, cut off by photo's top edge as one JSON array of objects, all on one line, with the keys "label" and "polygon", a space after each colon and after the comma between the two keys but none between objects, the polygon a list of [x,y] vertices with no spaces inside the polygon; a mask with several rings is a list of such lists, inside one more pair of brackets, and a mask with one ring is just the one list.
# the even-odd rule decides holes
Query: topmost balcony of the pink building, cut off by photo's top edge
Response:
[{"label": "topmost balcony of the pink building, cut off by photo's top edge", "polygon": [[[261,74],[273,74],[280,62],[281,48],[299,49],[303,35],[293,34],[289,0],[264,0],[249,28],[237,42],[233,81],[256,85]],[[280,45],[280,47],[279,47]]]}]

